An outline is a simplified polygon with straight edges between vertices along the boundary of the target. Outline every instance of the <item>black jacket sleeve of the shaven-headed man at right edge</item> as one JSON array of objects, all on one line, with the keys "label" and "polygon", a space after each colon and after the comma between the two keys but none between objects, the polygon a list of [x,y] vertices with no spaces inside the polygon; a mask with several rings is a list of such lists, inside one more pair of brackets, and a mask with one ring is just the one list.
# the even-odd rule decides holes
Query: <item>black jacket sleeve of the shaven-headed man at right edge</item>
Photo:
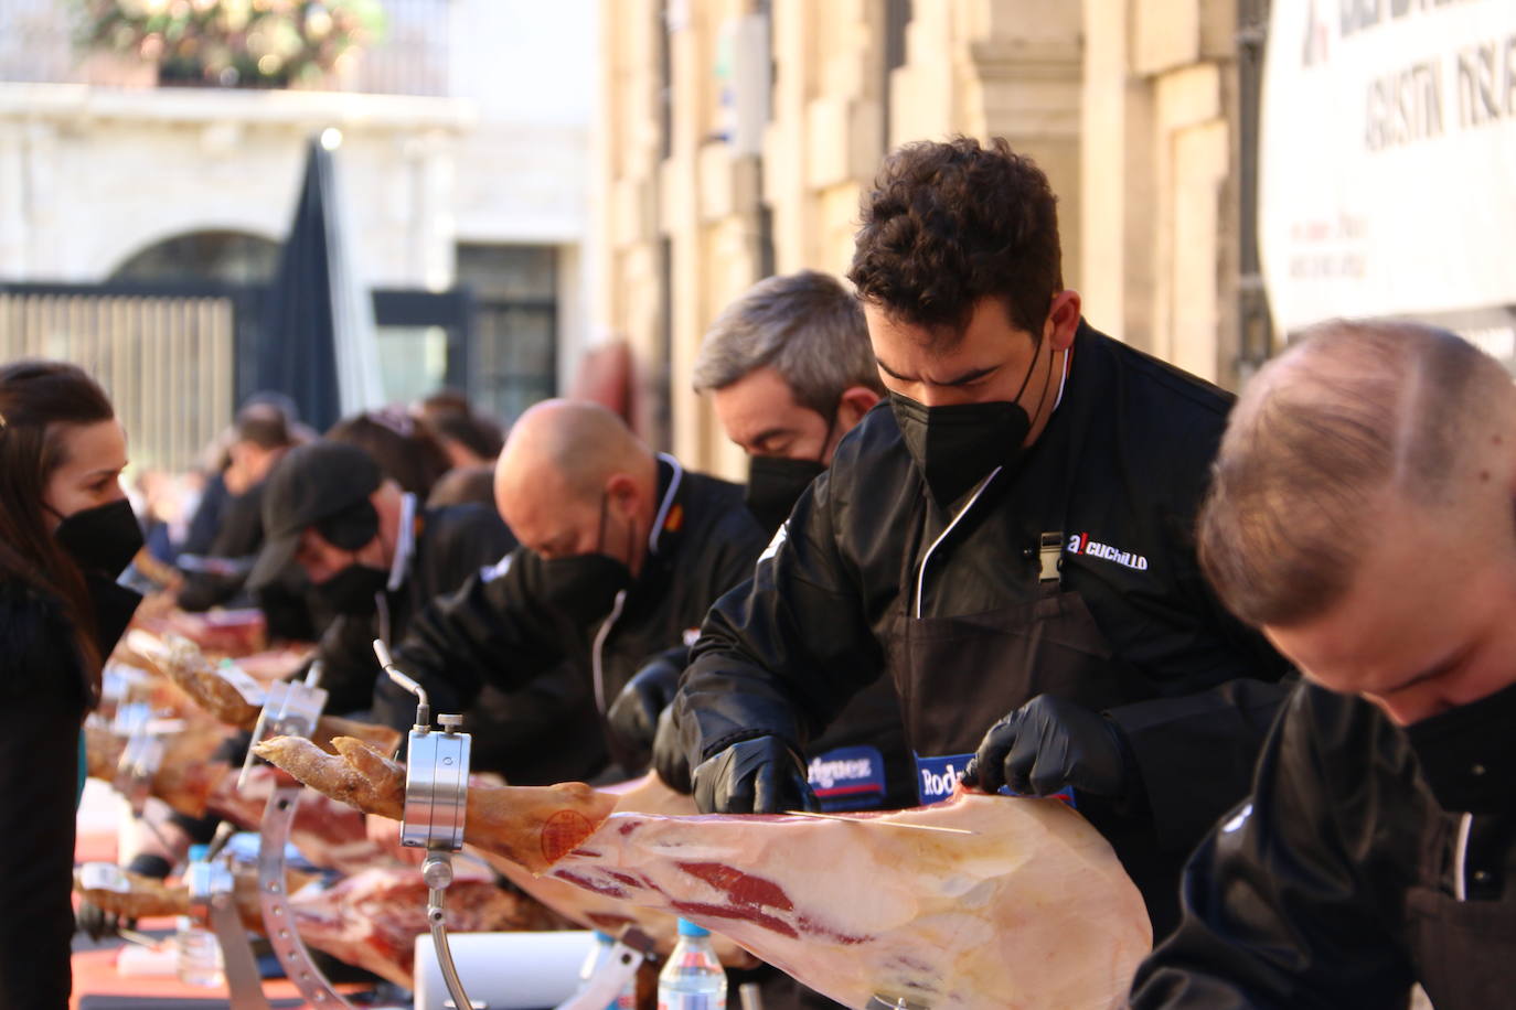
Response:
[{"label": "black jacket sleeve of the shaven-headed man at right edge", "polygon": [[[1342,795],[1372,790],[1372,745],[1334,733],[1322,743],[1301,687],[1270,733],[1254,796],[1201,845],[1184,871],[1184,919],[1137,972],[1135,1010],[1404,1005],[1410,963],[1399,921],[1364,854],[1387,825],[1348,822]],[[1381,800],[1383,803],[1383,800]],[[1363,810],[1363,807],[1357,807]],[[1375,804],[1367,809],[1375,810]]]}]

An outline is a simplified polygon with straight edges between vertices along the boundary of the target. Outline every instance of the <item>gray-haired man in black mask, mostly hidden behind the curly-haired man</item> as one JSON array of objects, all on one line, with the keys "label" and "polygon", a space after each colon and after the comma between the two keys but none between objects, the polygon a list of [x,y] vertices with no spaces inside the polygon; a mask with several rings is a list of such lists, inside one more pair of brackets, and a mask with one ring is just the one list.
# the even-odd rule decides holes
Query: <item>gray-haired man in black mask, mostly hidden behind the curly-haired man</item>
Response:
[{"label": "gray-haired man in black mask, mostly hidden behind the curly-haired man", "polygon": [[[767,277],[717,316],[694,360],[694,388],[709,394],[726,436],[747,453],[747,507],[770,533],[884,392],[857,298],[831,274],[811,270]],[[682,668],[682,650],[667,653],[628,683],[609,713],[623,739],[653,745]],[[655,748],[659,771],[687,787],[672,725],[661,739],[669,747]],[[813,742],[808,760],[810,784],[829,810],[916,803],[887,678]]]}]

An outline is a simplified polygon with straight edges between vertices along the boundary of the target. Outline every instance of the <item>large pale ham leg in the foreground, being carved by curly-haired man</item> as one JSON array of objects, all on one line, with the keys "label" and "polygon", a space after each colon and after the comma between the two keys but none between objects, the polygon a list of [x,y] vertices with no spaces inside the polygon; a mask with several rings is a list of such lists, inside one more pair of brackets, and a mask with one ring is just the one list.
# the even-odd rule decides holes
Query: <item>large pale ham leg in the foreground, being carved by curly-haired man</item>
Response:
[{"label": "large pale ham leg in the foreground, being carved by curly-haired man", "polygon": [[[399,818],[405,769],[359,740],[334,747],[340,759],[288,737],[259,753]],[[578,783],[478,787],[465,836],[534,874],[700,922],[850,1007],[875,993],[935,1010],[1119,1007],[1152,942],[1110,845],[1054,800],[960,792],[843,821],[614,809]]]}]

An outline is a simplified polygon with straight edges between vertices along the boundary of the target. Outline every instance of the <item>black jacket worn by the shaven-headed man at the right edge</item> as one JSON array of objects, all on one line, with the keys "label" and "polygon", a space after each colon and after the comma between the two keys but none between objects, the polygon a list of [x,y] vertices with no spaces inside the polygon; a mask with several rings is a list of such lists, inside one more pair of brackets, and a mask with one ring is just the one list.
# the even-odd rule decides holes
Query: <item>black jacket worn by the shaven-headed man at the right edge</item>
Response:
[{"label": "black jacket worn by the shaven-headed man at the right edge", "polygon": [[1186,868],[1184,921],[1143,963],[1132,1005],[1404,1007],[1413,981],[1437,1010],[1511,1005],[1516,800],[1461,827],[1402,730],[1302,684],[1251,803]]}]

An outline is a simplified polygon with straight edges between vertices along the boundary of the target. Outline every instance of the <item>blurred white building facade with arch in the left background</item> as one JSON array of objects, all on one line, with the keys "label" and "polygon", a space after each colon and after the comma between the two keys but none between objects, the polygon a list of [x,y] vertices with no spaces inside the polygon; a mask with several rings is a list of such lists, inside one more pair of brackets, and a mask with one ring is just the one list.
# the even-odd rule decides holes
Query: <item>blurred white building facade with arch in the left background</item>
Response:
[{"label": "blurred white building facade with arch in the left background", "polygon": [[[567,385],[590,333],[596,0],[385,0],[353,73],[291,89],[159,86],[146,61],[74,45],[79,8],[0,0],[0,283],[180,280],[144,263],[197,239],[258,253],[209,279],[259,280],[249,263],[270,267],[290,229],[308,138],[337,130],[362,282],[470,286],[485,406],[511,415]],[[532,353],[515,354],[525,329]],[[437,327],[381,330],[387,395],[435,388],[438,347]]]}]

